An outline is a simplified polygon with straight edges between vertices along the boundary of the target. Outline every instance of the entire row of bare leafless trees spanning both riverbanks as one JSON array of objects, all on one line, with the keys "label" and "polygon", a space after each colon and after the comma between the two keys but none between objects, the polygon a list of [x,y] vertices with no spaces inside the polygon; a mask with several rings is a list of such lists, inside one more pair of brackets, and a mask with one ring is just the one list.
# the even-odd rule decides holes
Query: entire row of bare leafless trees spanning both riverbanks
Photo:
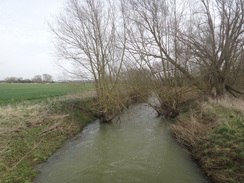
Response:
[{"label": "entire row of bare leafless trees spanning both riverbanks", "polygon": [[128,92],[169,117],[192,88],[241,94],[243,0],[70,0],[51,29],[60,61],[94,79],[105,120]]}]

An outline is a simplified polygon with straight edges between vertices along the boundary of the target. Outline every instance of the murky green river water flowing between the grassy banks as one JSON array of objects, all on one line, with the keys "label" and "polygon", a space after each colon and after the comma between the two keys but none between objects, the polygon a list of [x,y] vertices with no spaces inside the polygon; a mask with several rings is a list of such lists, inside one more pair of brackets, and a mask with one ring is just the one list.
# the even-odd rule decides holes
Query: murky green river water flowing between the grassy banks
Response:
[{"label": "murky green river water flowing between the grassy banks", "polygon": [[40,168],[35,183],[207,183],[147,105],[94,122]]}]

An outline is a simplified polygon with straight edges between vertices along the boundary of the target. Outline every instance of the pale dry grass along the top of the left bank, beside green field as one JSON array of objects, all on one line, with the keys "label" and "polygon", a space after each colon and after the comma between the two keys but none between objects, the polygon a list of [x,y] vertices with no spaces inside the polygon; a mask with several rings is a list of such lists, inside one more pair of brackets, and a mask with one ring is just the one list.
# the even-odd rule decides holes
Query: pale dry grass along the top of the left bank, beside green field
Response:
[{"label": "pale dry grass along the top of the left bank, beside green field", "polygon": [[[8,149],[8,142],[19,131],[45,125],[45,132],[62,128],[67,114],[49,113],[44,104],[23,103],[17,106],[0,106],[0,157]],[[46,123],[49,120],[49,124]],[[0,158],[1,160],[1,158]]]}]

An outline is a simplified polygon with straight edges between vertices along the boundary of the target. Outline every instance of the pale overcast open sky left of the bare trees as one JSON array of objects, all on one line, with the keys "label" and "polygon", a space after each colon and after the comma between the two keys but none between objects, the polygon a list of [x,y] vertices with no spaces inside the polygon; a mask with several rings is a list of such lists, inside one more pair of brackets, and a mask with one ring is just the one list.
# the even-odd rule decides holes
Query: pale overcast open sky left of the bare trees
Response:
[{"label": "pale overcast open sky left of the bare trees", "polygon": [[48,22],[66,0],[0,0],[0,80],[32,79],[51,74],[59,79]]}]

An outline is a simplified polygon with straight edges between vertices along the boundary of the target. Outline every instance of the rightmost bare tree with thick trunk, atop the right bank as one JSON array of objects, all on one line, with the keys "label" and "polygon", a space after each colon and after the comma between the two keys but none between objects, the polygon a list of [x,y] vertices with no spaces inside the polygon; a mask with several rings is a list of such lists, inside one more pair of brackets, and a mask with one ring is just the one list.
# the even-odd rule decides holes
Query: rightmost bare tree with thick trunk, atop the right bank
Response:
[{"label": "rightmost bare tree with thick trunk, atop the right bank", "polygon": [[[243,63],[244,2],[243,0],[201,0],[193,6],[186,27],[181,29],[180,40],[191,51],[208,92],[223,96],[225,89],[241,93],[231,85]],[[197,10],[196,10],[197,9]],[[242,57],[242,59],[241,59]]]}]

